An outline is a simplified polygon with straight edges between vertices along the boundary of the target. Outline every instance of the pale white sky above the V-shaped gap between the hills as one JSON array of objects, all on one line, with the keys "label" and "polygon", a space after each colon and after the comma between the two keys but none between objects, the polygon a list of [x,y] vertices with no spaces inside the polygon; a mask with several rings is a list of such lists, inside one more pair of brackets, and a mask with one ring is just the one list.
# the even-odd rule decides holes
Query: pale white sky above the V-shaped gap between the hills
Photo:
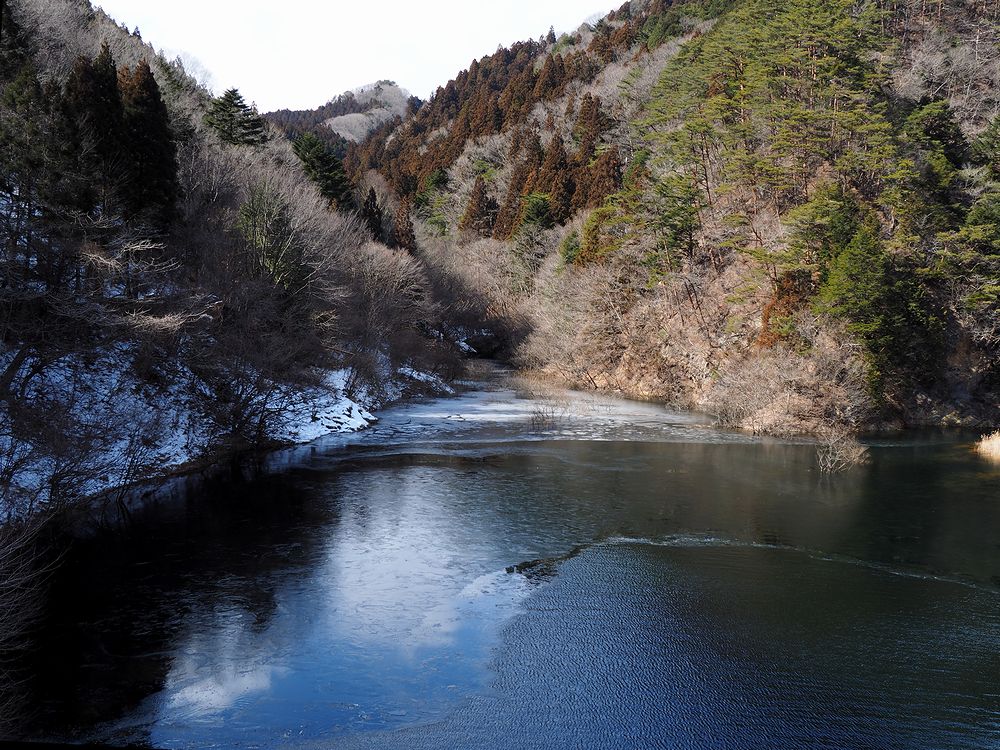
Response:
[{"label": "pale white sky above the V-shaped gap between the hills", "polygon": [[[317,107],[388,78],[426,99],[473,59],[572,31],[621,0],[95,0],[169,57],[188,56],[216,90],[261,111]],[[192,65],[190,67],[196,67]]]}]

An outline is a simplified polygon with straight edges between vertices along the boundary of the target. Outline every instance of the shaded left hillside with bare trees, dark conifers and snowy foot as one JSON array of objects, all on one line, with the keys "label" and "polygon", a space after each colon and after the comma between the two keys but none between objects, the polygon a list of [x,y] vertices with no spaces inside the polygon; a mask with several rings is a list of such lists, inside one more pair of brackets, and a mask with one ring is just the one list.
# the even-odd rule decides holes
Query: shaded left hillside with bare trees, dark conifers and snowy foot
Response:
[{"label": "shaded left hillside with bare trees, dark conifers and snowy foot", "polygon": [[345,391],[454,369],[429,281],[322,148],[86,0],[2,14],[0,518],[356,425]]}]

